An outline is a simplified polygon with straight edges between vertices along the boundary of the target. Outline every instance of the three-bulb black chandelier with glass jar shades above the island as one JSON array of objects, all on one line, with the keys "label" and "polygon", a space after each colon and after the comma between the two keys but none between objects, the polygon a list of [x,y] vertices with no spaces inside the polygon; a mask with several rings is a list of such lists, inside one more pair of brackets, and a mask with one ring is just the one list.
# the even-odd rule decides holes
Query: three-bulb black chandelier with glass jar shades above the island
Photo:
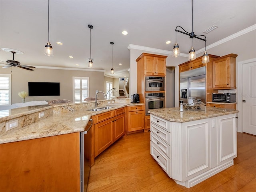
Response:
[{"label": "three-bulb black chandelier with glass jar shades above the island", "polygon": [[[182,31],[178,30],[177,28],[181,28]],[[195,35],[194,32],[193,32],[193,0],[192,0],[192,32],[189,33],[186,30],[184,30],[184,28],[182,28],[181,26],[176,26],[175,33],[177,33],[177,32],[188,35],[192,39],[192,46],[191,46],[191,49],[189,51],[188,60],[196,59],[196,51],[193,48],[193,38],[196,38],[196,39],[200,39],[200,40],[205,42],[205,52],[204,52],[204,55],[203,55],[203,58],[202,58],[202,63],[209,62],[209,54],[206,52],[206,36],[204,36],[204,35]],[[175,38],[176,38],[176,34],[175,34]],[[178,46],[177,40],[176,40],[176,42],[173,46],[173,49],[172,49],[172,56],[173,57],[178,57],[179,55],[180,55],[180,50],[179,50],[179,46]]]}]

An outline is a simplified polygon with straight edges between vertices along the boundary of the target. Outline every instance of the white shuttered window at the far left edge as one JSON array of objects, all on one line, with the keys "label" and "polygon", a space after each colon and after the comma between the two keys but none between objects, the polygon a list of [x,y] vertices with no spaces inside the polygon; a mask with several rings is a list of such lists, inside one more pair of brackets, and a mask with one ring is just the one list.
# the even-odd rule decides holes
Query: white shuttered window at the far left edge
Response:
[{"label": "white shuttered window at the far left edge", "polygon": [[0,74],[0,105],[11,104],[11,74]]}]

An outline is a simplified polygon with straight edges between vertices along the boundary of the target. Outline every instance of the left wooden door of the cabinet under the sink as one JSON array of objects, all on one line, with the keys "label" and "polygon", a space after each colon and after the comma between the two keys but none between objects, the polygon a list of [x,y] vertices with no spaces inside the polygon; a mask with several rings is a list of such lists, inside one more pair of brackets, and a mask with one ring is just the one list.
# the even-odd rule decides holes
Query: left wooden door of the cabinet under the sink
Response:
[{"label": "left wooden door of the cabinet under the sink", "polygon": [[94,125],[95,157],[113,143],[113,118]]}]

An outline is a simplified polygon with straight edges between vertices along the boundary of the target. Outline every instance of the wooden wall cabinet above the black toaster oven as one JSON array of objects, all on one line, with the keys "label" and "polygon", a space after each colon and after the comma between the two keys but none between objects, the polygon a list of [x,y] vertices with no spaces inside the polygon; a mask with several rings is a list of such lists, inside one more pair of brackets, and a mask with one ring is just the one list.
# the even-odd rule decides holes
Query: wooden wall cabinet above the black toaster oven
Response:
[{"label": "wooden wall cabinet above the black toaster oven", "polygon": [[236,54],[212,61],[212,89],[236,89]]}]

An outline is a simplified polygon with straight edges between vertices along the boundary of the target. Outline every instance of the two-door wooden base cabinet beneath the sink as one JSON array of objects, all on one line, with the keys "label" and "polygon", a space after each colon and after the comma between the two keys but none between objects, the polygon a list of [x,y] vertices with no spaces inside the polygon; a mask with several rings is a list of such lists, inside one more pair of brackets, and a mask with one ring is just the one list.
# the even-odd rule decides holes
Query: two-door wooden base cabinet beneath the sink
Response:
[{"label": "two-door wooden base cabinet beneath the sink", "polygon": [[94,116],[94,157],[125,134],[125,109]]}]

